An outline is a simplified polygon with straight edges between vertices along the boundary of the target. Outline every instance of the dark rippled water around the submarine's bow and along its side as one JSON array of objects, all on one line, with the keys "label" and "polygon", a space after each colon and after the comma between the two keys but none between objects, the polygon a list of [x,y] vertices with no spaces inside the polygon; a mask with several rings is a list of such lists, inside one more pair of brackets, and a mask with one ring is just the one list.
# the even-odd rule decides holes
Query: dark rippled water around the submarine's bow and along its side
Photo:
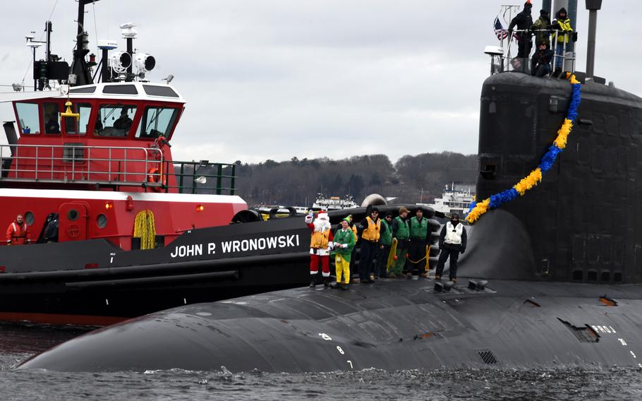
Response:
[{"label": "dark rippled water around the submarine's bow and along its side", "polygon": [[641,400],[642,371],[365,369],[329,373],[59,373],[14,369],[83,328],[0,325],[0,399],[8,400]]}]

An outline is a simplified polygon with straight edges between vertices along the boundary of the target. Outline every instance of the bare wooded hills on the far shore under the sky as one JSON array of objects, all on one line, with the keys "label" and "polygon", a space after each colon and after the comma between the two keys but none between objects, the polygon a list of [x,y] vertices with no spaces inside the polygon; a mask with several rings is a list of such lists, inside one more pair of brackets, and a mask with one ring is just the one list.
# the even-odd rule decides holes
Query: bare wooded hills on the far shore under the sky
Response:
[{"label": "bare wooded hills on the far shore under the sky", "polygon": [[235,164],[236,193],[248,205],[309,207],[317,193],[351,195],[358,204],[370,193],[396,197],[395,203],[428,203],[440,197],[445,184],[474,183],[478,175],[477,155],[455,152],[406,155],[394,164],[386,155]]}]

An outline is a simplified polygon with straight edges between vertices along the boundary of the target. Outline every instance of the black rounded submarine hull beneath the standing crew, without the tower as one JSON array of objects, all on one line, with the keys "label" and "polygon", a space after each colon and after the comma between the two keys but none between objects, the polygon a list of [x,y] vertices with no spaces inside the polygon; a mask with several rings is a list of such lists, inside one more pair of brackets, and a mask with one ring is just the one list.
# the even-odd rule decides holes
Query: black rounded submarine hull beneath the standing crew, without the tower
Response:
[{"label": "black rounded submarine hull beneath the standing crew, without the tower", "polygon": [[494,280],[483,290],[458,283],[449,292],[433,285],[380,280],[349,291],[289,289],[184,306],[88,333],[20,368],[642,366],[641,285]]}]

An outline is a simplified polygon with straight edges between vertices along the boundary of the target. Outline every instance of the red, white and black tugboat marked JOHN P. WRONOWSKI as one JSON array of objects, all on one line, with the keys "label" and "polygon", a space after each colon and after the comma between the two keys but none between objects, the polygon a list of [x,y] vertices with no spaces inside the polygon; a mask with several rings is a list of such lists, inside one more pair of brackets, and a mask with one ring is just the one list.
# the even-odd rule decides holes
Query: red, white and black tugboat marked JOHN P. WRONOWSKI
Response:
[{"label": "red, white and black tugboat marked JOHN P. WRONOWSKI", "polygon": [[[78,1],[79,27],[90,2]],[[0,222],[23,215],[30,231],[30,244],[0,244],[0,321],[104,325],[309,282],[302,221],[258,222],[234,164],[173,160],[186,102],[171,77],[145,80],[156,61],[133,52],[133,25],[121,29],[125,52],[102,41],[96,64],[79,28],[71,67],[47,46],[37,90],[0,95],[15,112]]]}]

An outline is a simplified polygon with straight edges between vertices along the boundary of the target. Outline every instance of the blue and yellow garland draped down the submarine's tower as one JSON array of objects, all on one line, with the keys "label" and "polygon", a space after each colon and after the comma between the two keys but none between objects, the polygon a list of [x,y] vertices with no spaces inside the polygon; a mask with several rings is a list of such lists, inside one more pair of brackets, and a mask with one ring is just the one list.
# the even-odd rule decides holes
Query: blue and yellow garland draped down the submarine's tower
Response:
[{"label": "blue and yellow garland draped down the submarine's tower", "polygon": [[564,150],[567,146],[567,139],[569,138],[569,133],[571,133],[571,128],[573,128],[573,123],[577,118],[577,107],[580,104],[580,83],[576,80],[575,75],[567,73],[567,78],[571,85],[573,86],[573,96],[571,98],[571,104],[569,105],[569,111],[567,112],[567,118],[564,119],[562,127],[557,131],[557,138],[553,141],[553,144],[548,148],[546,154],[542,157],[540,165],[534,169],[531,174],[524,177],[513,188],[507,189],[506,191],[495,193],[491,195],[490,198],[486,198],[481,201],[481,203],[476,203],[473,201],[471,203],[471,211],[466,215],[466,221],[473,224],[476,222],[481,215],[487,212],[488,209],[495,209],[506,203],[509,200],[513,200],[519,194],[520,196],[526,193],[533,186],[537,185],[542,181],[542,174],[547,172],[557,159],[557,155]]}]

